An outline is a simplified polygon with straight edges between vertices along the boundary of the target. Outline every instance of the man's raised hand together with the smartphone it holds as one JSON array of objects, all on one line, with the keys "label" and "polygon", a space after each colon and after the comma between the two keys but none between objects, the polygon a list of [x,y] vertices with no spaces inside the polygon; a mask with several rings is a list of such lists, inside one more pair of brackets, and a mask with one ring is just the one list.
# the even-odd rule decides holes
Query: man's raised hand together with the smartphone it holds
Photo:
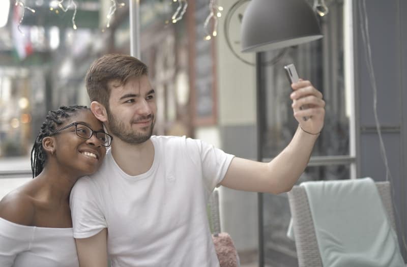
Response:
[{"label": "man's raised hand together with the smartphone it holds", "polygon": [[325,101],[322,93],[312,83],[299,78],[294,64],[284,66],[291,82],[294,117],[300,127],[309,134],[319,134],[324,126]]}]

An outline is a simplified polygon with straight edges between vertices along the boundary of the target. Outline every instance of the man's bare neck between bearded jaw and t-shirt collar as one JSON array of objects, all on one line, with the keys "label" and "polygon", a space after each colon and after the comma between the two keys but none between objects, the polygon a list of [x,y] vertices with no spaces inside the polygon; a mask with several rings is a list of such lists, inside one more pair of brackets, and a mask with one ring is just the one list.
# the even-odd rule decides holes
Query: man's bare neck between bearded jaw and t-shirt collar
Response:
[{"label": "man's bare neck between bearded jaw and t-shirt collar", "polygon": [[131,176],[147,172],[154,161],[154,145],[151,139],[140,144],[114,140],[111,153],[119,167]]}]

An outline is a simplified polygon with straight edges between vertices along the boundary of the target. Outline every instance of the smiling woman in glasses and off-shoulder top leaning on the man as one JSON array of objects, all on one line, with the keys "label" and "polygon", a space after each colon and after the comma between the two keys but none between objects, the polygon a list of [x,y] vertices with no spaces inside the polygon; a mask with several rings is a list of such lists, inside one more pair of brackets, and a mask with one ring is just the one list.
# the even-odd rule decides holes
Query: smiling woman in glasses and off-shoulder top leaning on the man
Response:
[{"label": "smiling woman in glasses and off-shoulder top leaning on the man", "polygon": [[31,155],[35,179],[0,201],[0,266],[79,266],[69,193],[111,139],[85,106],[48,112]]}]

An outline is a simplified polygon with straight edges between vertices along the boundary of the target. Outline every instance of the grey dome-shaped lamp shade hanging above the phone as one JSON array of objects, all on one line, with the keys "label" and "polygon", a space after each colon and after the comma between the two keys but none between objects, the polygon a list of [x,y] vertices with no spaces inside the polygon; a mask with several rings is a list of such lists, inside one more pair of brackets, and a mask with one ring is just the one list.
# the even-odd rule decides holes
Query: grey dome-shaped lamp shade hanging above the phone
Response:
[{"label": "grey dome-shaped lamp shade hanging above the phone", "polygon": [[242,52],[261,52],[322,38],[304,0],[252,0],[243,15]]}]

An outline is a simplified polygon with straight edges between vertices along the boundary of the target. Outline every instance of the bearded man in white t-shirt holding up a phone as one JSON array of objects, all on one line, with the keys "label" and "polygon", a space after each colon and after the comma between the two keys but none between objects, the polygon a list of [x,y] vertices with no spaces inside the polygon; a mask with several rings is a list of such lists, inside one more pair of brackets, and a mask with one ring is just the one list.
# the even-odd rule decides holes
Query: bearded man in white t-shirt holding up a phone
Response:
[{"label": "bearded man in white t-shirt holding up a phone", "polygon": [[271,162],[254,162],[199,140],[152,136],[155,92],[146,65],[132,56],[102,56],[85,81],[91,110],[113,140],[99,171],[72,189],[81,267],[107,266],[107,257],[113,267],[219,266],[206,212],[215,186],[289,191],[324,124],[322,94],[309,81],[292,84],[293,140]]}]

